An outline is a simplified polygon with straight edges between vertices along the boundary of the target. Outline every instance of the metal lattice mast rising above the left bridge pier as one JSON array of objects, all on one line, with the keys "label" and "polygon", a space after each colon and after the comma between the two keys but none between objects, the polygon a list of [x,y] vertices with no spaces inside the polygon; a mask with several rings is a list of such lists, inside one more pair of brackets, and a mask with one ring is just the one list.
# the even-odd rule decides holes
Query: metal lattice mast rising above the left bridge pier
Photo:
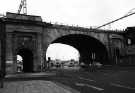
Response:
[{"label": "metal lattice mast rising above the left bridge pier", "polygon": [[26,0],[21,0],[17,13],[20,14],[21,10],[23,11],[23,14],[27,15],[27,1]]}]

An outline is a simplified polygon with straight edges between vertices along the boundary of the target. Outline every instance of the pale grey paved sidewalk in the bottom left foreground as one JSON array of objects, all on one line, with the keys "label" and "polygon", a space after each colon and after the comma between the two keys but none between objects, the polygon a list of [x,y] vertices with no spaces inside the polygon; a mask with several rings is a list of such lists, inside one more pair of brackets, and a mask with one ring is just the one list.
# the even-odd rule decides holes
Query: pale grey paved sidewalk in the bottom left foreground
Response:
[{"label": "pale grey paved sidewalk in the bottom left foreground", "polygon": [[79,93],[78,91],[51,81],[31,80],[5,82],[0,93]]}]

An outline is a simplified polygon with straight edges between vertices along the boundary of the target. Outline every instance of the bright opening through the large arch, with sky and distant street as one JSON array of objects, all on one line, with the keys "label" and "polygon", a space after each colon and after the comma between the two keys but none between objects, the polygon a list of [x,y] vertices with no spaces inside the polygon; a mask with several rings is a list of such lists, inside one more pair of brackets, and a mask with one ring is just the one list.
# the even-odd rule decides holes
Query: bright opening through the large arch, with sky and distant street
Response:
[{"label": "bright opening through the large arch, with sky and distant street", "polygon": [[51,68],[77,68],[79,59],[80,53],[73,46],[52,43],[47,48],[46,60],[51,62]]}]

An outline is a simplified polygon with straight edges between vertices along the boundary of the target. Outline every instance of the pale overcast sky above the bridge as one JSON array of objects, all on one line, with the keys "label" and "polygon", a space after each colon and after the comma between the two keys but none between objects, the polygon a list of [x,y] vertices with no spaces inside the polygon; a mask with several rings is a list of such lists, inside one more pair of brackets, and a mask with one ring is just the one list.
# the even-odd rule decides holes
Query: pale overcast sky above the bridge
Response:
[{"label": "pale overcast sky above the bridge", "polygon": [[[1,0],[0,13],[17,12],[21,0]],[[100,26],[126,15],[135,8],[135,0],[27,0],[29,15],[42,16],[46,22]],[[135,9],[134,9],[135,11]],[[106,28],[135,26],[135,15]]]}]

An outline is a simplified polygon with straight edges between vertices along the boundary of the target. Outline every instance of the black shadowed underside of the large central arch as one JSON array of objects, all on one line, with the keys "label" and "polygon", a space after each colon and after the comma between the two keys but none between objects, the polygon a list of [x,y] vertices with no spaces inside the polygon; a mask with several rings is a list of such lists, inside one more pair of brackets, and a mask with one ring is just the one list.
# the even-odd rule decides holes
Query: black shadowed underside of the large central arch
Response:
[{"label": "black shadowed underside of the large central arch", "polygon": [[59,37],[52,43],[63,43],[75,47],[80,53],[80,62],[84,62],[85,64],[92,62],[93,53],[95,54],[95,61],[102,64],[109,64],[105,45],[91,36],[70,34]]}]

